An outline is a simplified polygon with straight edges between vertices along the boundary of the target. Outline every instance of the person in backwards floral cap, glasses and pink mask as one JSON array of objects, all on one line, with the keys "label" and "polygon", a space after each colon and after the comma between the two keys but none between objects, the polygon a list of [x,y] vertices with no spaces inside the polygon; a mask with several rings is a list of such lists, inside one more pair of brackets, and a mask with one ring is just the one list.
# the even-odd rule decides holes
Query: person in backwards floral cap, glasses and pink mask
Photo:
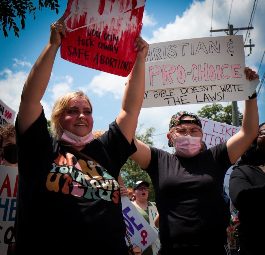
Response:
[{"label": "person in backwards floral cap, glasses and pink mask", "polygon": [[[259,78],[249,67],[245,74],[248,80]],[[222,213],[223,181],[228,168],[256,138],[258,127],[254,92],[245,102],[241,130],[207,150],[200,151],[200,119],[187,111],[170,120],[167,138],[174,154],[134,138],[137,152],[131,158],[150,175],[155,191],[162,246],[158,254],[230,254]]]}]

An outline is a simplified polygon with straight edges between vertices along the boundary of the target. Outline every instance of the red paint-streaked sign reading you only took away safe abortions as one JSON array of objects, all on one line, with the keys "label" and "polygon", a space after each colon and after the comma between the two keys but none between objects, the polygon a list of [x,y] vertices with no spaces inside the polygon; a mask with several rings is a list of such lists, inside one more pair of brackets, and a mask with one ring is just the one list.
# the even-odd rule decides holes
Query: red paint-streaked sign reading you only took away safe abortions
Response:
[{"label": "red paint-streaked sign reading you only took away safe abortions", "polygon": [[68,0],[61,57],[78,65],[127,76],[137,52],[145,0]]}]

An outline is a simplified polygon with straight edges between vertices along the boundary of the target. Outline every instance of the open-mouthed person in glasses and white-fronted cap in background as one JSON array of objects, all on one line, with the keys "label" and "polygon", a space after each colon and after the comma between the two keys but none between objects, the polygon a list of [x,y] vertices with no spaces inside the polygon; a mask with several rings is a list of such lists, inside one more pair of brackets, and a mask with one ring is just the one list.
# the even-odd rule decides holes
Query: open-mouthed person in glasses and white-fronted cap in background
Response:
[{"label": "open-mouthed person in glasses and white-fronted cap in background", "polygon": [[[138,181],[132,186],[132,195],[135,201],[132,201],[136,209],[143,215],[145,220],[149,222],[149,206],[155,206],[155,203],[147,201],[149,183],[145,181]],[[152,247],[148,246],[142,253],[143,255],[153,255]]]}]

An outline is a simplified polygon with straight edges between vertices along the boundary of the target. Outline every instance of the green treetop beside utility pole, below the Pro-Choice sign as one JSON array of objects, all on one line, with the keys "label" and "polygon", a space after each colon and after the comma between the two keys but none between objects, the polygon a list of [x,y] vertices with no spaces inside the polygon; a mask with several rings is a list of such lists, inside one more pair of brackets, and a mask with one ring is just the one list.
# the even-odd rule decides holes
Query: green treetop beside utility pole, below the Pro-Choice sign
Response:
[{"label": "green treetop beside utility pole, below the Pro-Choice sign", "polygon": [[[198,110],[198,116],[213,121],[232,125],[232,105],[222,106],[218,103],[207,104]],[[239,126],[242,125],[243,114],[238,109]]]}]

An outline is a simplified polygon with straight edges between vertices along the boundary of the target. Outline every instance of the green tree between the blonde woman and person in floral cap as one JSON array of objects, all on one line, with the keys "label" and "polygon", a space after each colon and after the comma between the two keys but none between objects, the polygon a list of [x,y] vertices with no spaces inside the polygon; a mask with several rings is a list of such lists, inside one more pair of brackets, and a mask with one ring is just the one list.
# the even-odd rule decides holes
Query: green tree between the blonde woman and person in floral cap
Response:
[{"label": "green tree between the blonde woman and person in floral cap", "polygon": [[[155,129],[150,127],[146,129],[144,133],[140,133],[140,130],[143,128],[143,124],[140,125],[140,129],[135,133],[135,137],[140,141],[144,142],[149,146],[154,145],[153,134]],[[131,188],[133,184],[137,181],[147,181],[150,183],[149,186],[149,201],[155,201],[155,193],[151,183],[151,179],[147,172],[143,171],[138,164],[136,164],[131,158],[128,158],[127,162],[121,168],[121,176],[124,182],[125,187]]]}]

